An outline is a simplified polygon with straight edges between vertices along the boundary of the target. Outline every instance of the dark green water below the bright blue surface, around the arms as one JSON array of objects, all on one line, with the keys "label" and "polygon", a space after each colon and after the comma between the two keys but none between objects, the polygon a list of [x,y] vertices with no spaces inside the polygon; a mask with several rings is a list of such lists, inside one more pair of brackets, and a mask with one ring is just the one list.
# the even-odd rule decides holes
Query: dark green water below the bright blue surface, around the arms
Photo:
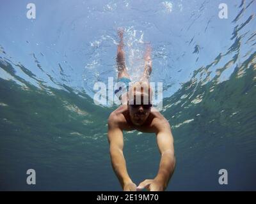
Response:
[{"label": "dark green water below the bright blue surface, around the arms", "polygon": [[[172,126],[177,159],[168,191],[256,190],[255,57],[254,52],[220,84],[218,76],[197,82],[195,71],[164,98],[161,113]],[[8,61],[0,67],[26,85],[0,78],[0,189],[122,190],[107,140],[108,115],[116,107],[96,106],[68,87],[69,92],[38,89],[17,77]],[[136,131],[124,136],[132,180],[154,178],[160,159],[156,137]],[[26,184],[29,168],[36,170],[34,186]],[[218,184],[221,168],[228,171],[226,186]]]}]

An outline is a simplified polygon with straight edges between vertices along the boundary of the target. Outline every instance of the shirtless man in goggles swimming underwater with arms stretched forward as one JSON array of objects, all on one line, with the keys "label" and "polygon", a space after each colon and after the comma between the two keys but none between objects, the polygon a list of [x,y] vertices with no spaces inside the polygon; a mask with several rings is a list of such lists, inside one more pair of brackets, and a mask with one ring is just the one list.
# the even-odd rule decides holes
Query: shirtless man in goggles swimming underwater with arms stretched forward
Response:
[{"label": "shirtless man in goggles swimming underwater with arms stretched forward", "polygon": [[[118,80],[129,87],[131,82],[125,67],[124,41],[122,29],[118,30],[120,42],[117,48]],[[149,77],[152,71],[151,48],[147,46],[144,60],[145,69],[139,82],[129,87],[129,91],[120,96],[122,104],[109,115],[108,142],[111,164],[124,191],[164,191],[175,168],[173,136],[168,120],[156,108],[152,107],[152,89]],[[130,83],[131,84],[131,83]],[[121,87],[120,87],[121,88]],[[116,90],[118,94],[120,89]],[[123,154],[123,131],[138,130],[143,133],[156,133],[157,145],[161,154],[159,170],[154,179],[146,179],[138,186],[127,172]]]}]

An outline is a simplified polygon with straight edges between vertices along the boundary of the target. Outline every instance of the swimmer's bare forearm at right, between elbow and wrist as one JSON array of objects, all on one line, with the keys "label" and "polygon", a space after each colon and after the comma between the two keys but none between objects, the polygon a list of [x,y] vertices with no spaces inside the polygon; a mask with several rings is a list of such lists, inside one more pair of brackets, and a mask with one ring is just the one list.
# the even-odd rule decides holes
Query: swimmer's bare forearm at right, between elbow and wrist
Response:
[{"label": "swimmer's bare forearm at right, between elbow and wrist", "polygon": [[168,182],[172,177],[175,168],[175,156],[173,152],[163,152],[159,164],[159,170],[155,179],[163,183],[164,189],[168,186]]}]

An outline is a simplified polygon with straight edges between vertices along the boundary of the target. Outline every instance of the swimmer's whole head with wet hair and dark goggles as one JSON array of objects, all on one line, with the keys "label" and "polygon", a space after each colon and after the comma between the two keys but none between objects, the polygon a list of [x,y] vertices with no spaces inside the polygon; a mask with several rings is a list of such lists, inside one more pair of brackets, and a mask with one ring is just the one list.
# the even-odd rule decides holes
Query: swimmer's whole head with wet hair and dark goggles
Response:
[{"label": "swimmer's whole head with wet hair and dark goggles", "polygon": [[151,101],[152,89],[148,82],[136,82],[129,88],[128,110],[134,125],[141,126],[147,120]]}]

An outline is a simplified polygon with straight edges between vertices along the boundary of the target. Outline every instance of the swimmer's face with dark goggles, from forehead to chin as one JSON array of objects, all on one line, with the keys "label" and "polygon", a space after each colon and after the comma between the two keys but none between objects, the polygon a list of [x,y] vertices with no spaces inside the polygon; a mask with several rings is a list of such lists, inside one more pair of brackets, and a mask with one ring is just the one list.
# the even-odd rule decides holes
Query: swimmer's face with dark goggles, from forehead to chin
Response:
[{"label": "swimmer's face with dark goggles, from forehead to chin", "polygon": [[[147,97],[148,96],[144,96]],[[136,126],[141,126],[148,118],[148,115],[151,111],[151,104],[148,102],[143,103],[143,95],[141,96],[141,101],[136,101],[136,96],[134,95],[134,100],[129,100],[129,115],[131,118],[131,121]],[[133,103],[133,104],[132,104]]]}]

